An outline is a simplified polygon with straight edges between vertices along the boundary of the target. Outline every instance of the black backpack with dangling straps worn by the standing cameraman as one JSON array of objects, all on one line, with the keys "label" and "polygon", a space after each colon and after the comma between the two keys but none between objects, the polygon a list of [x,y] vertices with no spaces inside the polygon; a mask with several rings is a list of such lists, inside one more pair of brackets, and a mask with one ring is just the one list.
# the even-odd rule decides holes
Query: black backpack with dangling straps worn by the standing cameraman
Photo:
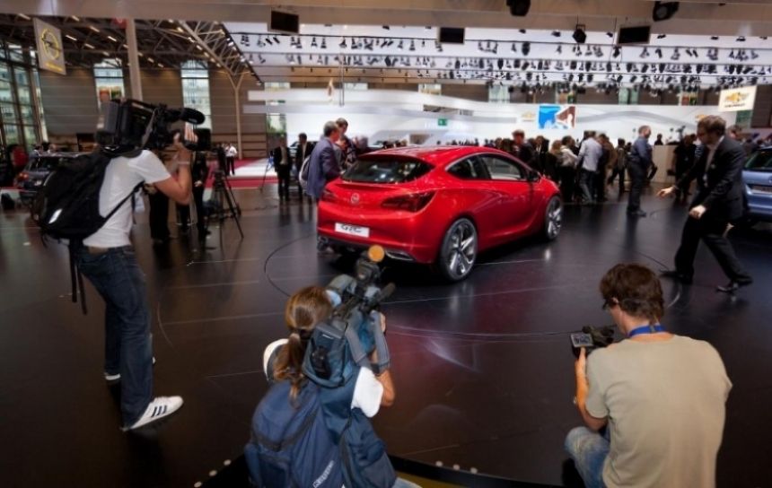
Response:
[{"label": "black backpack with dangling straps worn by the standing cameraman", "polygon": [[[139,153],[125,155],[136,157]],[[100,190],[111,160],[110,154],[97,150],[60,164],[43,182],[31,207],[32,221],[38,224],[44,241],[46,238],[69,241],[73,302],[77,301],[80,292],[83,313],[86,313],[83,277],[76,272],[75,250],[142,187],[141,183],[137,185],[110,213],[102,216],[99,212]]]}]

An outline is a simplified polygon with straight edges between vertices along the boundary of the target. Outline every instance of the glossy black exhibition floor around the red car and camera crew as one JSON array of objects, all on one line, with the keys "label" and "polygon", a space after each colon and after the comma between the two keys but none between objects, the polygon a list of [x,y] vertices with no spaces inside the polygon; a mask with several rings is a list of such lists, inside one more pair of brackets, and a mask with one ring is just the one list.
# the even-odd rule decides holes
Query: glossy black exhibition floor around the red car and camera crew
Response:
[{"label": "glossy black exhibition floor around the red car and camera crew", "polygon": [[[118,430],[116,392],[101,376],[102,304],[69,301],[65,248],[44,248],[21,212],[0,214],[0,485],[193,486],[240,456],[267,385],[263,348],[285,335],[289,293],[350,271],[315,249],[313,208],[238,192],[245,239],[152,248],[140,217],[137,255],[154,309],[155,392],[185,398],[155,429]],[[561,484],[566,432],[581,421],[566,333],[607,324],[597,284],[619,261],[671,264],[685,209],[647,197],[569,207],[559,239],[496,249],[463,283],[423,267],[389,266],[388,316],[397,403],[376,417],[390,454],[522,481]],[[718,485],[772,486],[772,228],[733,231],[756,283],[736,298],[701,249],[694,285],[664,282],[663,322],[722,354],[734,388]],[[666,413],[662,413],[666,414]]]}]

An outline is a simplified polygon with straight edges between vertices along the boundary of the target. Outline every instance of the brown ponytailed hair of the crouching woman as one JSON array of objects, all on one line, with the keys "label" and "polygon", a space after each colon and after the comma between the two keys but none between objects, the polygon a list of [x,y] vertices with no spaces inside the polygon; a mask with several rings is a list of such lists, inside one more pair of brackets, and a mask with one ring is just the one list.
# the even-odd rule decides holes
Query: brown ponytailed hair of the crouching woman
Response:
[{"label": "brown ponytailed hair of the crouching woman", "polygon": [[320,286],[309,286],[296,292],[287,301],[285,322],[290,330],[287,344],[276,358],[274,379],[288,379],[292,384],[290,398],[294,401],[303,388],[303,357],[308,340],[317,324],[332,314],[332,302]]}]

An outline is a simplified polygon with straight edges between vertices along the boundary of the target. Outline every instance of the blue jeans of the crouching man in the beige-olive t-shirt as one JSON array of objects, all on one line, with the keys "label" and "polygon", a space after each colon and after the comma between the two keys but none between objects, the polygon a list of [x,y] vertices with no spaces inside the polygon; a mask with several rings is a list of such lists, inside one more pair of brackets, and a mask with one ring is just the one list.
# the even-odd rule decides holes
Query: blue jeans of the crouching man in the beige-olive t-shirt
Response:
[{"label": "blue jeans of the crouching man in the beige-olive t-shirt", "polygon": [[601,435],[586,427],[576,427],[566,436],[566,451],[574,459],[585,488],[603,488],[603,463],[609,456],[609,429]]}]

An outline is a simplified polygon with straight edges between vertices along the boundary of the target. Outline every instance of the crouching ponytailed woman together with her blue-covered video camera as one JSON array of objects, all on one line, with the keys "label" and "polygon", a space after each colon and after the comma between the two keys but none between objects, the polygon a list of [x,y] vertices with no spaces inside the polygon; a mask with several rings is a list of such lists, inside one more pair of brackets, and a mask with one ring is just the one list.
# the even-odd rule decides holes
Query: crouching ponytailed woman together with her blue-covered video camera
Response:
[{"label": "crouching ponytailed woman together with her blue-covered video camera", "polygon": [[363,257],[356,279],[341,275],[327,289],[303,288],[287,301],[290,335],[266,349],[274,384],[244,449],[253,485],[416,486],[397,478],[369,420],[395,398],[386,319],[373,311],[393,285],[373,285],[376,267]]}]

